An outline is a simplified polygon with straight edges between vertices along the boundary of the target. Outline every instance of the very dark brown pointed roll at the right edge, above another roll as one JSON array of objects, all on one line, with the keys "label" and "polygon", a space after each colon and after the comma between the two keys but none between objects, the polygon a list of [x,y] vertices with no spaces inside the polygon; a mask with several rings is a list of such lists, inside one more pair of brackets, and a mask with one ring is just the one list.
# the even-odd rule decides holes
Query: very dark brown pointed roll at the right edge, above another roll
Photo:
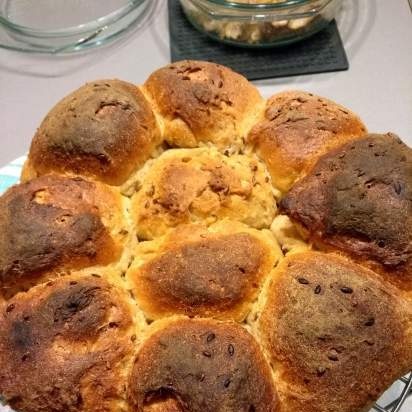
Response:
[{"label": "very dark brown pointed roll at the right edge, above another roll", "polygon": [[397,136],[368,135],[324,155],[281,208],[319,246],[412,288],[412,150]]}]

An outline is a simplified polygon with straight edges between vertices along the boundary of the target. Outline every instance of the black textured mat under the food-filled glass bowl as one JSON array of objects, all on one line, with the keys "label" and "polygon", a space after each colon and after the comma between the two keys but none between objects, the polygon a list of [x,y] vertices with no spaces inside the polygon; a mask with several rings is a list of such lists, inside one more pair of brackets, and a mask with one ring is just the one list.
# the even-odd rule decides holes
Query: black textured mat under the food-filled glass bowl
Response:
[{"label": "black textured mat under the food-filled glass bowl", "polygon": [[243,49],[221,44],[200,33],[186,19],[179,0],[168,2],[172,61],[213,61],[229,66],[251,80],[349,68],[335,21],[309,39],[287,47]]}]

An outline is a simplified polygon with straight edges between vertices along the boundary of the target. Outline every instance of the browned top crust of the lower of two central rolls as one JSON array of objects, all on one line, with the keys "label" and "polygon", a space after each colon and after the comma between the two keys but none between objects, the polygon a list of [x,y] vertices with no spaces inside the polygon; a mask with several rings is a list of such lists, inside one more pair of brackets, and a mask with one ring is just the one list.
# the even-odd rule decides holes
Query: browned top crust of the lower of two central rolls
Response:
[{"label": "browned top crust of the lower of two central rolls", "polygon": [[248,233],[187,242],[143,265],[136,293],[157,312],[221,315],[256,295],[264,252]]}]

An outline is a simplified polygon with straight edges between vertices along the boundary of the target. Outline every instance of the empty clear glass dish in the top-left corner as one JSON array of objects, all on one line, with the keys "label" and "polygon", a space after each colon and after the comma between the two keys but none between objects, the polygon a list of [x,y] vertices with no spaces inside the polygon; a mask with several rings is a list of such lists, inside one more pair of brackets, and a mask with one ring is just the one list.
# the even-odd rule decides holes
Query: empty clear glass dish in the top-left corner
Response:
[{"label": "empty clear glass dish in the top-left corner", "polygon": [[69,53],[100,46],[133,28],[153,0],[0,0],[0,47]]}]

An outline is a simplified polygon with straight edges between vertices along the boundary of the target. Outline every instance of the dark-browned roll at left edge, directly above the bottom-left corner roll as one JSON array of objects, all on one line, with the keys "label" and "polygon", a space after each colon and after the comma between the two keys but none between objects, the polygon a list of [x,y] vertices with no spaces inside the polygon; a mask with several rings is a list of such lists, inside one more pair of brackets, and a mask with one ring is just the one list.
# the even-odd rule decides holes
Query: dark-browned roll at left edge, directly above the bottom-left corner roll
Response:
[{"label": "dark-browned roll at left edge, directly above the bottom-left corner roll", "polygon": [[115,261],[122,222],[119,195],[98,183],[43,176],[12,187],[0,198],[0,294]]}]

